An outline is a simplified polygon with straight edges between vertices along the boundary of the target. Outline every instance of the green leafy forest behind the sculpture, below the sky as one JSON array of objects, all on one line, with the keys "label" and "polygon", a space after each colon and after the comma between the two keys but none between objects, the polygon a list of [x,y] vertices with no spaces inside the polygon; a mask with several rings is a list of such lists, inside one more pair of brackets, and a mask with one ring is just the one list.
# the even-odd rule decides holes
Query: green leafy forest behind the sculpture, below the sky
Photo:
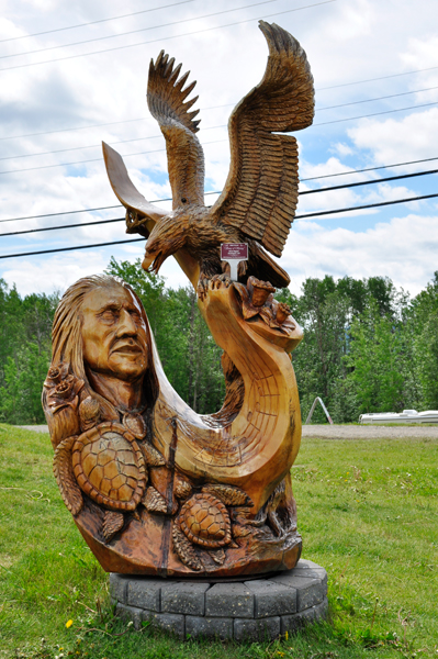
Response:
[{"label": "green leafy forest behind the sculpture, below the sky", "polygon": [[[139,260],[111,259],[106,271],[131,283],[142,299],[166,373],[196,412],[217,411],[224,396],[221,349],[202,320],[194,291],[168,289]],[[0,421],[45,423],[41,390],[50,355],[50,328],[60,293],[21,298],[0,280]],[[335,423],[362,412],[438,409],[438,271],[409,299],[382,277],[335,281],[307,278],[287,302],[304,327],[293,353],[302,415],[316,395]],[[325,423],[317,407],[313,422]]]}]

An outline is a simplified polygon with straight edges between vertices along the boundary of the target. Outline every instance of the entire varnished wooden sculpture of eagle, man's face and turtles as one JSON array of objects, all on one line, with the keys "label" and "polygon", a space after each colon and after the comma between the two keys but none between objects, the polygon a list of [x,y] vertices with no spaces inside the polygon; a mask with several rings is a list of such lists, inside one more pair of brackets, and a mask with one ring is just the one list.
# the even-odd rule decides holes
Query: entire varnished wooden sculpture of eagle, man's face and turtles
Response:
[{"label": "entire varnished wooden sculpture of eagle, man's face and turtles", "polygon": [[[222,410],[194,413],[166,378],[141,301],[123,281],[96,276],[63,297],[43,405],[63,499],[106,571],[234,577],[292,568],[301,537],[290,469],[301,415],[290,354],[302,338],[274,298],[288,275],[280,255],[294,216],[296,143],[273,134],[305,127],[313,80],[304,52],[261,22],[265,77],[231,118],[232,166],[224,192],[203,203],[198,122],[183,102],[188,75],[162,53],[149,70],[148,103],[165,134],[173,211],[149,204],[122,158],[104,156],[127,209],[127,231],[147,237],[144,267],[175,255],[223,348]],[[232,282],[223,242],[249,244]],[[260,245],[261,243],[261,245]]]}]

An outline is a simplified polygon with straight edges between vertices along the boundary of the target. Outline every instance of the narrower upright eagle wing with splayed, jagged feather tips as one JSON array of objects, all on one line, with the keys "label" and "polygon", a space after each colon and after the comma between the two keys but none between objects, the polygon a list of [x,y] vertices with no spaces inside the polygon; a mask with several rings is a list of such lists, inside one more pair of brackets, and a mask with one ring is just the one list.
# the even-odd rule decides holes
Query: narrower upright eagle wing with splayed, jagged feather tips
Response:
[{"label": "narrower upright eagle wing with splayed, jagged feather tips", "polygon": [[204,203],[204,154],[195,136],[200,120],[194,118],[199,110],[189,112],[198,97],[184,102],[196,82],[182,89],[190,71],[178,79],[181,65],[173,68],[173,57],[169,60],[164,51],[155,64],[150,60],[147,104],[166,137],[173,209],[178,209]]}]

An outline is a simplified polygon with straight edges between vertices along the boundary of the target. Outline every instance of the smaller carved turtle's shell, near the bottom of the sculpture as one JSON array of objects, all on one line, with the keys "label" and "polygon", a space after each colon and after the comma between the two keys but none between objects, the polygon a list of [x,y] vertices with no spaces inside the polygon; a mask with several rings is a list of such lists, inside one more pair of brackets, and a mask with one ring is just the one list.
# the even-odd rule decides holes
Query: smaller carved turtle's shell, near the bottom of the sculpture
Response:
[{"label": "smaller carved turtle's shell, near the bottom of the sculpture", "polygon": [[179,522],[186,537],[201,547],[229,545],[232,525],[225,505],[213,494],[194,494],[182,506]]}]

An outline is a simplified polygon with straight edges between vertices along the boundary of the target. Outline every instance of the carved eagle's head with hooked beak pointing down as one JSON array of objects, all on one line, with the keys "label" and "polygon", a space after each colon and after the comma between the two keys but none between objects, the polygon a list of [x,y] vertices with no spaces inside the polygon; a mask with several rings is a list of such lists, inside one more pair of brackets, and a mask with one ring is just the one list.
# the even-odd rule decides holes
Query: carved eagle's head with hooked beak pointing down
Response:
[{"label": "carved eagle's head with hooked beak pointing down", "polygon": [[165,260],[184,246],[187,228],[182,217],[168,215],[159,220],[146,242],[142,268],[158,275]]}]

